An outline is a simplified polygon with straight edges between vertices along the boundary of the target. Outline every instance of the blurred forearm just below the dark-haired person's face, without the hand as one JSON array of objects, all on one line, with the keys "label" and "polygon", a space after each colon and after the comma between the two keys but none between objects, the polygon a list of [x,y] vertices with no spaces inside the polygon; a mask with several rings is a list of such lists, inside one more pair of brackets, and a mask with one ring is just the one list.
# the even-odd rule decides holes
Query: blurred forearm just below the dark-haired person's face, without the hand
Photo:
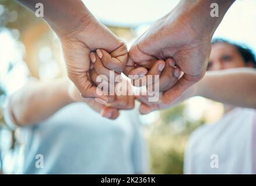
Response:
[{"label": "blurred forearm just below the dark-haired person's face, without the hand", "polygon": [[195,95],[233,106],[256,109],[256,71],[230,69],[207,72]]}]

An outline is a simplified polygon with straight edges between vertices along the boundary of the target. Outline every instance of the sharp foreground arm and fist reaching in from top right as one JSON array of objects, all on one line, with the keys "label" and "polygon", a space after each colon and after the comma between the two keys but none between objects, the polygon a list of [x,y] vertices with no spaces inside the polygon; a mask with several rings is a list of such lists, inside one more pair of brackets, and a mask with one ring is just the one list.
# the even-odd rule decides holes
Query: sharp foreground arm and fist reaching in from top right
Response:
[{"label": "sharp foreground arm and fist reaching in from top right", "polygon": [[173,102],[204,76],[211,53],[212,35],[234,0],[214,2],[219,5],[219,17],[210,15],[210,0],[180,1],[176,8],[135,41],[129,50],[132,60],[128,61],[125,73],[132,73],[134,63],[136,67],[149,69],[156,59],[172,58],[184,72],[184,76],[163,93],[162,102]]}]

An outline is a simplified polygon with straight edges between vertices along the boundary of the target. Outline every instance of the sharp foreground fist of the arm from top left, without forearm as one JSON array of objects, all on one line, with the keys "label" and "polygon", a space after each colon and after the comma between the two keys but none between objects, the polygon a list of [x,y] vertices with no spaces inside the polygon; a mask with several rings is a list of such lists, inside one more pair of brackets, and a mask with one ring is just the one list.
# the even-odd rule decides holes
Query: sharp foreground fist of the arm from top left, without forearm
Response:
[{"label": "sharp foreground fist of the arm from top left, without forearm", "polygon": [[[97,98],[100,103],[107,103],[105,95],[98,95],[96,86],[89,78],[90,53],[97,48],[103,48],[111,53],[113,58],[104,61],[106,69],[121,73],[128,59],[127,48],[121,40],[113,35],[106,27],[97,22],[94,17],[87,17],[76,30],[59,36],[68,77],[73,81],[84,98]],[[118,49],[118,53],[115,53]],[[111,62],[111,64],[110,64]]]}]

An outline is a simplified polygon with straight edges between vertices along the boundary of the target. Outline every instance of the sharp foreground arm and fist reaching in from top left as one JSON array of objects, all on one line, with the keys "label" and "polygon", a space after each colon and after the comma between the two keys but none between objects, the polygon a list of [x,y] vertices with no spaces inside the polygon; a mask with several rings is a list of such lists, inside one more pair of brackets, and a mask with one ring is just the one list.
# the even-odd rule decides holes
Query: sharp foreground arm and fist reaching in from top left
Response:
[{"label": "sharp foreground arm and fist reaching in from top left", "polygon": [[[17,0],[29,9],[36,11],[37,0]],[[90,80],[90,52],[97,48],[111,53],[117,48],[124,48],[115,66],[106,64],[109,70],[121,73],[128,59],[127,48],[108,28],[98,22],[80,0],[42,0],[44,20],[58,35],[64,54],[68,77],[84,98],[97,98],[96,101],[107,103],[106,95],[98,95],[96,86]]]}]

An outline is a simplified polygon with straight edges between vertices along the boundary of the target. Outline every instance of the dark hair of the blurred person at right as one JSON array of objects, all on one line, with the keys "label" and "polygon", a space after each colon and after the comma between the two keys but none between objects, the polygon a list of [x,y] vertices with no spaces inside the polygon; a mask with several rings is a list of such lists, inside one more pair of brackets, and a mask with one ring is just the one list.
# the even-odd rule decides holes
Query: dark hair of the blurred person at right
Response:
[{"label": "dark hair of the blurred person at right", "polygon": [[222,38],[215,38],[212,40],[212,45],[216,43],[226,43],[226,44],[232,45],[233,47],[236,47],[237,51],[240,53],[240,55],[244,59],[244,62],[246,62],[246,64],[248,64],[249,62],[252,62],[254,64],[254,67],[256,67],[255,55],[250,48],[243,47],[239,44],[235,44],[227,40],[223,40]]}]

